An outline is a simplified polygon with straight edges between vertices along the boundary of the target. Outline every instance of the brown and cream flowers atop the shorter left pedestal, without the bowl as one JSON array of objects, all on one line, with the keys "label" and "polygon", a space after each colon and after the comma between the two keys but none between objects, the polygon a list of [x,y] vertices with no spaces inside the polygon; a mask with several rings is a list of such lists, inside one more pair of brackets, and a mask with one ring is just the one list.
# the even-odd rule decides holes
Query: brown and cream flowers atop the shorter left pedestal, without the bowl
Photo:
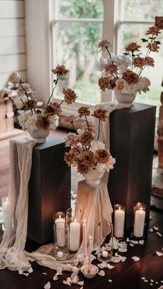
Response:
[{"label": "brown and cream flowers atop the shorter left pedestal, without the bowl", "polygon": [[43,109],[37,108],[37,100],[29,97],[31,88],[29,83],[21,81],[21,76],[17,72],[12,72],[8,76],[8,81],[14,83],[16,90],[10,90],[3,88],[0,90],[0,101],[11,99],[19,111],[19,123],[23,130],[32,132],[38,128],[55,129],[58,126],[59,114],[61,114],[61,103],[64,101],[67,104],[75,102],[77,98],[75,92],[70,88],[64,89],[64,100],[61,103],[57,101],[51,101],[54,90],[61,77],[64,77],[68,70],[65,66],[57,66],[52,70],[52,73],[56,75],[56,79],[53,81],[54,88],[48,99],[46,106]]}]

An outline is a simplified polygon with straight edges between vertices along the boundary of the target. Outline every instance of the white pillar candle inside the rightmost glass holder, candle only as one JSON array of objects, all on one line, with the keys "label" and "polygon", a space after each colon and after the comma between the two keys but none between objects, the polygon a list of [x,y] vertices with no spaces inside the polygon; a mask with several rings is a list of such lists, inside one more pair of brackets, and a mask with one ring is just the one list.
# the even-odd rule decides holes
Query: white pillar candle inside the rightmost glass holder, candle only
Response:
[{"label": "white pillar candle inside the rightmost glass holder, candle only", "polygon": [[145,216],[146,216],[146,212],[142,210],[142,207],[140,208],[140,210],[135,210],[133,235],[137,238],[140,238],[143,236]]}]

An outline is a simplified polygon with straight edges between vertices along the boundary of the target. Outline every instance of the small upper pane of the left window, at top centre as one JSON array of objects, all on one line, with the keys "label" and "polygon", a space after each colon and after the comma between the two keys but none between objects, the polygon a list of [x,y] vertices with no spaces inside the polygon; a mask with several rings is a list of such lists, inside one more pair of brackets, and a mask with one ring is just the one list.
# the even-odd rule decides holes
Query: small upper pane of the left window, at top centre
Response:
[{"label": "small upper pane of the left window, at top centre", "polygon": [[104,6],[102,0],[57,0],[59,18],[102,19]]}]

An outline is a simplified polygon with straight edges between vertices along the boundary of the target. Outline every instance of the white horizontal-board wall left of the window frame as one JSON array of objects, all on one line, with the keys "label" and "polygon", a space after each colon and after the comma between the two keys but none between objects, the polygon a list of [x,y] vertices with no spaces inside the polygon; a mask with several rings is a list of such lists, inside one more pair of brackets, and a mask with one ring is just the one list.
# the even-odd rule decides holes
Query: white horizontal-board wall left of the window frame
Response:
[{"label": "white horizontal-board wall left of the window frame", "polygon": [[8,74],[18,71],[26,80],[26,40],[23,0],[0,1],[0,88]]}]

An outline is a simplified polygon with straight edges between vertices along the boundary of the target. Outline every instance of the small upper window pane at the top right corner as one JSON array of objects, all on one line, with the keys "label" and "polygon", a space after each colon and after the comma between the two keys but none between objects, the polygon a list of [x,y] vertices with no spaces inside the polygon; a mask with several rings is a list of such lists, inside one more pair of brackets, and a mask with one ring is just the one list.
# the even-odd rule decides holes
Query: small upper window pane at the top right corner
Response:
[{"label": "small upper window pane at the top right corner", "polygon": [[155,16],[163,15],[162,0],[123,0],[122,20],[155,21]]}]

